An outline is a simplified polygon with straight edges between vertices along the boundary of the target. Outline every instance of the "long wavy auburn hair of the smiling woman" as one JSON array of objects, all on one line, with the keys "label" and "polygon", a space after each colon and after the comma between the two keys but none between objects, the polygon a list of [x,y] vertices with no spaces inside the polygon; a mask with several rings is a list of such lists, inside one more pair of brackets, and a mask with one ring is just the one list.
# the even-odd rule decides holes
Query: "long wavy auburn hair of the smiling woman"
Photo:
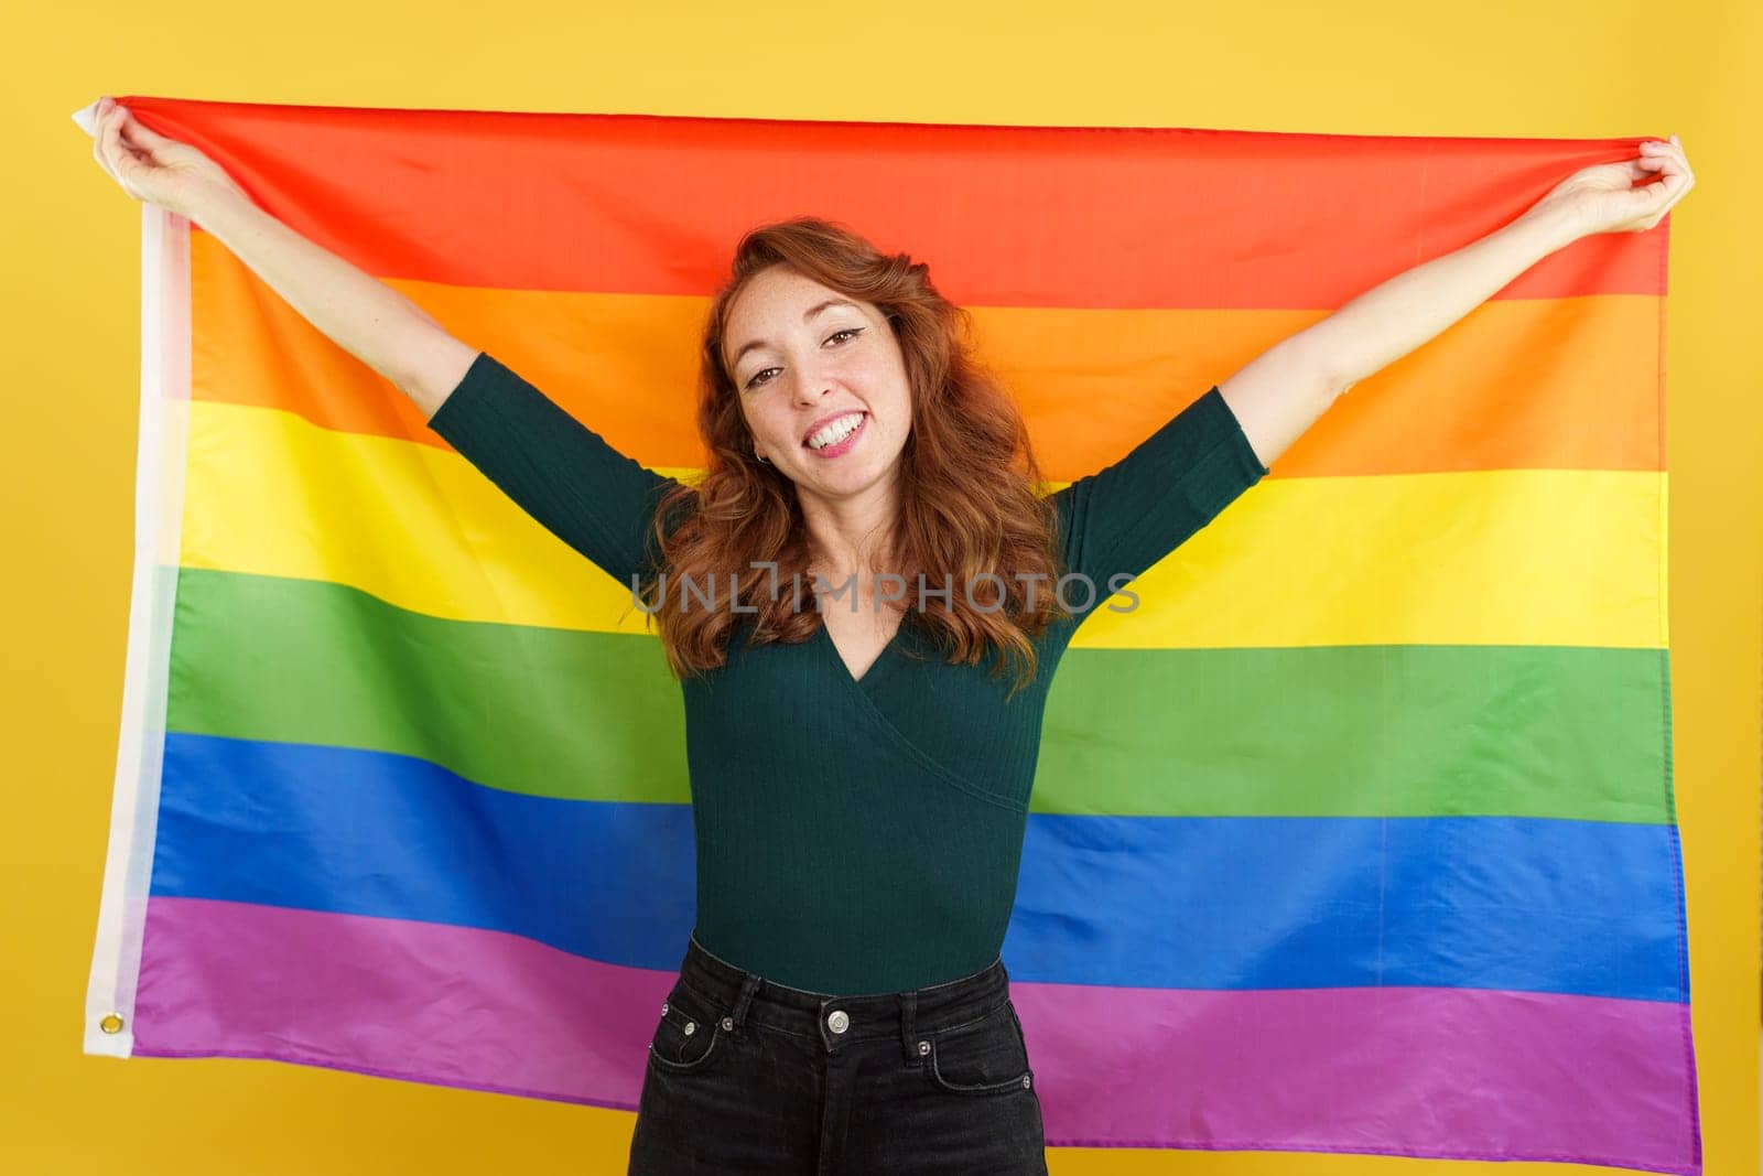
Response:
[{"label": "long wavy auburn hair of the smiling woman", "polygon": [[[971,317],[931,286],[929,266],[906,254],[882,254],[852,229],[816,217],[760,226],[735,247],[732,275],[710,305],[698,379],[698,432],[709,455],[705,476],[668,490],[649,531],[651,575],[638,599],[656,615],[668,665],[677,677],[726,661],[740,617],[755,622],[751,644],[797,644],[822,624],[815,608],[811,550],[795,483],[753,453],[733,374],[723,365],[728,310],[748,282],[770,266],[790,270],[874,305],[899,340],[911,386],[911,428],[901,453],[897,550],[889,568],[906,580],[906,615],[950,663],[977,665],[991,647],[996,679],[1014,658],[1010,695],[1035,675],[1035,647],[1065,615],[1051,585],[1058,547],[1045,483],[1028,428],[1001,381],[971,353]],[[753,564],[772,562],[772,571]],[[656,573],[665,571],[658,580]],[[991,577],[1001,578],[1003,591]],[[1028,584],[1045,577],[1028,607]],[[927,589],[952,587],[948,601],[929,596],[917,608],[917,577]],[[688,607],[682,577],[714,585],[726,605]],[[800,577],[797,598],[793,577]],[[672,587],[670,587],[672,582]],[[971,585],[968,603],[963,585]],[[774,599],[776,596],[776,599]],[[800,599],[800,608],[797,607]],[[1000,607],[1001,599],[1001,607]],[[756,612],[749,612],[756,608]]]}]

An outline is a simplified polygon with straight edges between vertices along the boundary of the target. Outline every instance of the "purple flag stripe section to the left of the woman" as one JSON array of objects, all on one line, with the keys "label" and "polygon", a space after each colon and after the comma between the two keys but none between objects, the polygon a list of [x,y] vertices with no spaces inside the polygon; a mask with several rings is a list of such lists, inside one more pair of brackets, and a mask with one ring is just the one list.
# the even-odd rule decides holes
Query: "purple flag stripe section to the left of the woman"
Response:
[{"label": "purple flag stripe section to the left of the woman", "polygon": [[502,931],[155,897],[134,1053],[275,1058],[635,1111],[675,977]]}]

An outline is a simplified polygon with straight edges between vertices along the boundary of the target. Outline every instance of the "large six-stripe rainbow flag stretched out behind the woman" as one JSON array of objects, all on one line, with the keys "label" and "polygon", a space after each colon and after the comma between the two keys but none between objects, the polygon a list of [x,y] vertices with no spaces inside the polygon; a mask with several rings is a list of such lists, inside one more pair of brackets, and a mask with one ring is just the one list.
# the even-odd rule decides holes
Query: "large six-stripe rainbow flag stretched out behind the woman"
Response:
[{"label": "large six-stripe rainbow flag stretched out behind the woman", "polygon": [[[122,100],[675,476],[756,224],[929,261],[1063,483],[1638,143]],[[1079,629],[1003,947],[1051,1146],[1700,1171],[1668,227],[1361,381]],[[693,837],[629,587],[210,234],[143,231],[86,1051],[635,1109]]]}]

